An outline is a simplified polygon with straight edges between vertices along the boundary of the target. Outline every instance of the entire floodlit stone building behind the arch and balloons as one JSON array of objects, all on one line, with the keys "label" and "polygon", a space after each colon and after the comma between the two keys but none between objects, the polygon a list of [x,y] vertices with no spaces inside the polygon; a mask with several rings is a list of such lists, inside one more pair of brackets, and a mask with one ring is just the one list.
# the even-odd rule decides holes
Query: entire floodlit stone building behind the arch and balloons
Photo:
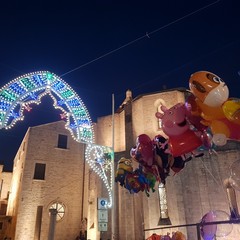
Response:
[{"label": "entire floodlit stone building behind the arch and balloons", "polygon": [[[145,133],[154,138],[162,134],[155,117],[162,104],[171,107],[185,102],[185,97],[184,89],[134,99],[127,91],[126,99],[114,114],[115,166],[120,157],[130,157],[138,135]],[[96,144],[112,146],[112,124],[111,115],[98,118],[94,126]],[[116,183],[107,231],[99,232],[97,200],[106,198],[107,190],[86,162],[86,145],[73,140],[64,121],[31,127],[15,156],[12,175],[1,172],[5,186],[1,210],[4,204],[7,209],[0,218],[0,236],[46,240],[52,233],[55,240],[74,240],[81,231],[91,240],[143,240],[153,233],[179,230],[187,239],[197,240],[196,226],[191,224],[200,222],[209,211],[229,213],[229,196],[223,182],[230,176],[231,164],[240,158],[239,148],[239,144],[230,142],[213,153],[206,151],[178,174],[173,176],[171,172],[166,185],[156,186],[157,191],[149,197],[144,192],[130,194]],[[54,213],[55,225],[51,224]],[[230,228],[219,229],[227,232]],[[233,226],[228,240],[238,239],[238,228],[237,224]]]}]

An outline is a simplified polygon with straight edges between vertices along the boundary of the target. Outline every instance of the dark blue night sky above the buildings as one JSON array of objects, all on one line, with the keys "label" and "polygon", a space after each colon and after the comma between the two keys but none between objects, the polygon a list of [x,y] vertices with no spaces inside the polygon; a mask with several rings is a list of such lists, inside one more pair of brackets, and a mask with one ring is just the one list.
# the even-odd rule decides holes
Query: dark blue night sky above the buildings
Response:
[{"label": "dark blue night sky above the buildings", "polygon": [[[9,1],[5,1],[9,2]],[[196,1],[11,1],[0,3],[0,84],[48,70],[67,82],[91,118],[133,97],[188,88],[199,70],[219,75],[240,98],[240,3]],[[29,126],[60,120],[50,97],[0,131],[0,162],[12,160]]]}]

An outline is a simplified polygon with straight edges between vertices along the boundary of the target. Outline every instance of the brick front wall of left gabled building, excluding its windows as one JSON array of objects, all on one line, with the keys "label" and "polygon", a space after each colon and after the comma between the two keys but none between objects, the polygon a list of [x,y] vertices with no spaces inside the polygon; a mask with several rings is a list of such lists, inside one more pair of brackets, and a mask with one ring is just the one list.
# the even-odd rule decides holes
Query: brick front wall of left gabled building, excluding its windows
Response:
[{"label": "brick front wall of left gabled building, excluding its windows", "polygon": [[[85,145],[74,141],[64,124],[46,124],[28,131],[27,148],[21,159],[24,165],[19,179],[21,192],[16,199],[19,207],[15,240],[34,239],[38,206],[43,209],[41,239],[47,239],[49,208],[54,202],[65,206],[65,215],[56,225],[55,238],[75,239],[79,234],[87,179],[83,175]],[[58,134],[68,136],[67,149],[57,148]],[[35,163],[46,164],[45,180],[33,179]]]}]

